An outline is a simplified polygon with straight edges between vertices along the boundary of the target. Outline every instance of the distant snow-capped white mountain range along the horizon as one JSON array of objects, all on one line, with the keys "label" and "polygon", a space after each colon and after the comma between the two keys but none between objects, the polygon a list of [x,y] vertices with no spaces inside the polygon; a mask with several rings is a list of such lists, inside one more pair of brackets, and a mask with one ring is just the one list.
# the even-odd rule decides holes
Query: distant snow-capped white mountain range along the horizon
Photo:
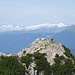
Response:
[{"label": "distant snow-capped white mountain range along the horizon", "polygon": [[[50,23],[44,23],[44,24],[39,24],[39,25],[31,25],[31,26],[25,26],[25,25],[13,25],[13,24],[6,24],[6,25],[1,25],[0,26],[0,32],[5,32],[5,31],[34,31],[38,29],[60,29],[63,30],[67,27],[68,25],[64,23],[59,23],[59,24],[50,24]],[[60,31],[59,30],[59,31]]]}]

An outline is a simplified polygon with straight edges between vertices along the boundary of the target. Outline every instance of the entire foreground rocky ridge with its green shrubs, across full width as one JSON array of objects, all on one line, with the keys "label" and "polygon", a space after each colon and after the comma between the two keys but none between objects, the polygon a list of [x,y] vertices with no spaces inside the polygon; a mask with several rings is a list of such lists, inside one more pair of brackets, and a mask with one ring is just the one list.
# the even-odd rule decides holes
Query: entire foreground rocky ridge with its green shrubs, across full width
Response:
[{"label": "entire foreground rocky ridge with its green shrubs, across full width", "polygon": [[[0,53],[1,55],[7,57],[5,59],[8,63],[16,57],[17,64],[20,64],[19,67],[22,68],[18,68],[20,71],[18,75],[75,75],[75,56],[71,54],[67,47],[53,38],[37,38],[28,48],[23,48],[17,54]],[[0,60],[3,59],[4,57],[0,58]],[[5,64],[6,71],[13,70],[11,72],[14,75],[18,73],[18,69],[15,73],[14,69],[11,68],[13,66],[11,63],[15,63],[15,60],[13,60],[9,65],[8,63]]]}]

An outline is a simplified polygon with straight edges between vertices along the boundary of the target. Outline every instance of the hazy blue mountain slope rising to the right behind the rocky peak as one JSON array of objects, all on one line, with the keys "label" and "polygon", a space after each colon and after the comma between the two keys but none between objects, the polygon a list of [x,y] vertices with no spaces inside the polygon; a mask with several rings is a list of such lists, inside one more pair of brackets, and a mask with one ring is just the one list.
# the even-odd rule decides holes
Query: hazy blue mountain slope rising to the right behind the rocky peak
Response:
[{"label": "hazy blue mountain slope rising to the right behind the rocky peak", "polygon": [[69,47],[73,54],[75,54],[75,25],[69,26],[67,29],[54,35],[54,39]]}]

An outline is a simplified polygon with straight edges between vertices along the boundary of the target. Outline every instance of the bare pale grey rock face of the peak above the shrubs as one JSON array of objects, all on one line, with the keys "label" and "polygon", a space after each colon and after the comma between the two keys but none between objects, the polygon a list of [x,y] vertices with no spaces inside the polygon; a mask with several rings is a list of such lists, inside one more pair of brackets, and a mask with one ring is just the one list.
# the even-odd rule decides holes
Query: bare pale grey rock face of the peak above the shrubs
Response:
[{"label": "bare pale grey rock face of the peak above the shrubs", "polygon": [[34,52],[39,51],[40,53],[46,53],[46,58],[50,64],[54,63],[55,55],[63,55],[64,57],[65,50],[61,43],[54,41],[53,39],[47,38],[38,38],[28,48],[22,49],[17,53],[19,57],[24,56],[28,53],[33,54]]}]

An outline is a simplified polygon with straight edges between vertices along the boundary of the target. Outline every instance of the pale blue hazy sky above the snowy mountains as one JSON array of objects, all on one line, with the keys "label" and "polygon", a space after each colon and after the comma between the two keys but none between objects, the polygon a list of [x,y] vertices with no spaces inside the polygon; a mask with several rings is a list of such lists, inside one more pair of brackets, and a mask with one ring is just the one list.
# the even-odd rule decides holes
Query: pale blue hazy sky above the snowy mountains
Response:
[{"label": "pale blue hazy sky above the snowy mountains", "polygon": [[0,0],[0,25],[75,24],[75,0]]}]

